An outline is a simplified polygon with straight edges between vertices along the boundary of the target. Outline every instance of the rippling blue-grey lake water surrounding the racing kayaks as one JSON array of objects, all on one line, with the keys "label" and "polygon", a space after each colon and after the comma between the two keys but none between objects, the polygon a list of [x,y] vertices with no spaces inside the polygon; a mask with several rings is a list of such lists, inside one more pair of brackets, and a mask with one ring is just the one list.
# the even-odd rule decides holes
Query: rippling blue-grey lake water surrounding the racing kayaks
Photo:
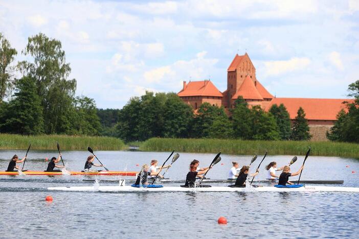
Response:
[{"label": "rippling blue-grey lake water surrounding the racing kayaks", "polygon": [[[13,154],[22,158],[25,153],[0,151],[0,169],[6,170]],[[151,159],[158,159],[162,165],[169,156],[169,153],[159,152],[96,153],[111,171],[139,171],[137,163],[142,165]],[[62,152],[66,168],[71,171],[82,170],[88,155],[83,151]],[[185,179],[191,160],[198,159],[200,166],[206,167],[215,156],[181,152],[180,155],[166,177]],[[44,158],[52,156],[57,157],[57,152],[30,151],[25,169],[46,170]],[[264,165],[268,162],[277,161],[280,166],[287,164],[292,157],[267,156],[256,179],[265,179]],[[221,158],[207,177],[225,179],[232,161],[240,165],[249,164],[252,156],[221,155]],[[259,155],[253,163],[253,171],[261,158]],[[291,166],[292,172],[299,169],[303,158],[298,157],[298,161]],[[338,186],[359,187],[358,174],[352,171],[359,173],[359,160],[309,156],[302,179],[344,180],[344,184]],[[0,238],[338,238],[357,237],[359,233],[359,195],[355,193],[126,194],[47,190],[52,186],[88,186],[91,183],[82,180],[95,178],[0,176]],[[104,178],[120,177],[98,177]],[[44,201],[47,195],[54,198],[52,203]],[[227,218],[227,225],[217,224],[220,216]]]}]

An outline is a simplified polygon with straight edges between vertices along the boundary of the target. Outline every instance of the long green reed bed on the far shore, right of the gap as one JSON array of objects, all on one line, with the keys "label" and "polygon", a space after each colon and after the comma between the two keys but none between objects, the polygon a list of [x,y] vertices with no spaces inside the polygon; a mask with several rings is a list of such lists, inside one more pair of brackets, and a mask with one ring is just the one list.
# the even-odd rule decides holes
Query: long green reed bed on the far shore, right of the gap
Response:
[{"label": "long green reed bed on the far shore, right of the gap", "polygon": [[172,151],[191,153],[223,154],[264,154],[305,155],[308,147],[310,155],[359,157],[359,144],[329,141],[254,141],[238,139],[188,139],[188,138],[150,138],[141,146],[143,151]]}]

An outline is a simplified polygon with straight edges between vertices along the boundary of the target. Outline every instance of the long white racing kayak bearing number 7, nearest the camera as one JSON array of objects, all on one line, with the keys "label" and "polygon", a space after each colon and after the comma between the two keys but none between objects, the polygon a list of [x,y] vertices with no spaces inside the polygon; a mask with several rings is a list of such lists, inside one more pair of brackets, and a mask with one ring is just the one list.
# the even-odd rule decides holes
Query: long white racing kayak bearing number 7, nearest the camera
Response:
[{"label": "long white racing kayak bearing number 7, nearest the camera", "polygon": [[359,193],[359,187],[333,187],[333,186],[310,186],[298,188],[278,187],[155,187],[138,188],[132,186],[79,186],[79,187],[49,187],[49,190],[73,191],[73,192],[353,192]]}]

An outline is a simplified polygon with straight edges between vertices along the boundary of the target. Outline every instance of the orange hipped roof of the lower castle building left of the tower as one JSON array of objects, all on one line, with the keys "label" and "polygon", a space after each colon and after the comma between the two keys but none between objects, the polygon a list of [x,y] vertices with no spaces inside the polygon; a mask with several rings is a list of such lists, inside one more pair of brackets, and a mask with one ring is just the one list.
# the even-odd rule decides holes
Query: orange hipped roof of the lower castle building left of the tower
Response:
[{"label": "orange hipped roof of the lower castle building left of the tower", "polygon": [[187,96],[211,96],[223,97],[222,93],[209,80],[191,81],[184,89],[178,92],[179,97]]}]

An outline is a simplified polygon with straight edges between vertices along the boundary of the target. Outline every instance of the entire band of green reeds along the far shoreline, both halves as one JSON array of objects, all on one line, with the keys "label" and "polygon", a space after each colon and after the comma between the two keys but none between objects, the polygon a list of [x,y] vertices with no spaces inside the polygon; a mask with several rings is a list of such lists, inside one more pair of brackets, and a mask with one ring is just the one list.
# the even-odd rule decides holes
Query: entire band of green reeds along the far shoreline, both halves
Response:
[{"label": "entire band of green reeds along the far shoreline, both halves", "polygon": [[31,144],[33,150],[56,150],[59,142],[62,150],[85,151],[88,146],[98,150],[121,151],[139,147],[140,151],[222,154],[264,154],[303,155],[311,147],[313,156],[336,156],[358,158],[359,144],[330,141],[265,141],[239,139],[188,139],[188,138],[150,138],[146,141],[128,142],[104,136],[69,136],[0,134],[0,150],[26,150]]}]

